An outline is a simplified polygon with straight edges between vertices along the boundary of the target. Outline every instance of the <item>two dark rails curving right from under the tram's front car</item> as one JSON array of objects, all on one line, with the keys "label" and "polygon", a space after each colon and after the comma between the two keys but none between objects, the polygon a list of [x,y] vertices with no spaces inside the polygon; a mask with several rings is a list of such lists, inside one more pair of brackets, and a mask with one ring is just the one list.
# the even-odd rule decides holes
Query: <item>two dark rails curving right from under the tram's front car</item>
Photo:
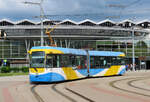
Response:
[{"label": "two dark rails curving right from under the tram's front car", "polygon": [[[69,95],[66,95],[65,93],[59,91],[59,90],[56,88],[56,86],[57,86],[57,84],[52,85],[52,89],[53,89],[55,92],[57,92],[58,94],[62,95],[63,97],[65,97],[66,99],[68,99],[68,100],[71,101],[71,102],[78,102],[77,100],[73,99],[73,98],[70,97]],[[70,93],[72,93],[72,94],[74,94],[74,95],[76,95],[76,96],[78,96],[78,97],[80,97],[80,98],[82,98],[82,99],[88,101],[88,102],[95,102],[95,101],[89,99],[88,97],[83,96],[83,95],[79,94],[78,92],[76,92],[76,91],[74,91],[74,90],[72,90],[72,89],[70,89],[70,88],[64,87],[64,89],[67,90],[67,91],[69,91]]]}]

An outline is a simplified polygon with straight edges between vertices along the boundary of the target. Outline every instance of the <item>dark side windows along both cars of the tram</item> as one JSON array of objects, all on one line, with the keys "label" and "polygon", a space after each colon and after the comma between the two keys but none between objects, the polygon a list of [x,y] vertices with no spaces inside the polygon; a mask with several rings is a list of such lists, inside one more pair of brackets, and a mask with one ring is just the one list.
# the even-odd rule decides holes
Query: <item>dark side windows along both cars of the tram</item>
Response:
[{"label": "dark side windows along both cars of the tram", "polygon": [[[34,61],[34,60],[33,60]],[[42,61],[42,62],[41,62]],[[44,63],[44,59],[35,62]],[[91,68],[109,68],[111,65],[124,65],[125,59],[122,57],[107,57],[107,56],[91,56]],[[87,68],[86,56],[80,55],[57,55],[51,54],[46,57],[47,68],[60,68],[60,67],[77,67],[78,69]]]}]

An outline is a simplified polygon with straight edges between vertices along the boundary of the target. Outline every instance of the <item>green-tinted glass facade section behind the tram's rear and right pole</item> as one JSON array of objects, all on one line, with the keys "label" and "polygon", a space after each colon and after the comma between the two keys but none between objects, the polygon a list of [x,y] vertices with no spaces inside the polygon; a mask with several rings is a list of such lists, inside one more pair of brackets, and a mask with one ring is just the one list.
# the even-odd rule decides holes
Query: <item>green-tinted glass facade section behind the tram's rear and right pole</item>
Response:
[{"label": "green-tinted glass facade section behind the tram's rear and right pole", "polygon": [[[132,57],[132,40],[103,40],[96,41],[97,50],[104,51],[121,51],[127,57]],[[135,57],[150,56],[150,41],[149,40],[135,40]]]}]

